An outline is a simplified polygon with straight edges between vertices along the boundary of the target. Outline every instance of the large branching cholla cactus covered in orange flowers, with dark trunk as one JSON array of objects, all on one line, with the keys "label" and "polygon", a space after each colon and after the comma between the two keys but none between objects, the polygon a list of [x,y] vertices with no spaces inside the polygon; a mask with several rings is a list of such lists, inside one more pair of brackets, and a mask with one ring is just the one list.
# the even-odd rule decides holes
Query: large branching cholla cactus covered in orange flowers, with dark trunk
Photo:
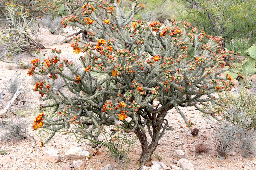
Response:
[{"label": "large branching cholla cactus covered in orange flowers, with dark trunk", "polygon": [[[131,1],[129,14],[123,12],[122,0],[104,1],[99,5],[105,10],[103,21],[96,17],[93,6],[82,6],[86,28],[77,23],[77,16],[63,19],[64,26],[88,29],[97,41],[74,37],[74,52],[84,53],[79,58],[82,69],[60,59],[61,51],[56,49],[52,58],[31,61],[29,75],[49,75],[52,79],[36,82],[34,89],[44,101],[51,101],[40,106],[41,112],[53,108],[51,114],[41,116],[39,122],[43,125],[36,126],[52,131],[44,143],[57,131],[73,132],[97,142],[101,125],[122,124],[137,135],[142,147],[140,162],[144,163],[150,160],[165,130],[172,129],[165,119],[168,110],[175,108],[190,128],[193,123],[182,113],[182,107],[195,106],[216,119],[221,114],[224,105],[212,93],[234,86],[230,75],[221,76],[229,69],[223,58],[232,56],[220,50],[222,38],[207,36],[187,22],[134,20],[144,6]],[[190,43],[195,44],[192,58],[186,55]],[[219,67],[223,69],[219,71]],[[68,76],[67,70],[73,75]],[[65,84],[55,92],[57,78]]]}]

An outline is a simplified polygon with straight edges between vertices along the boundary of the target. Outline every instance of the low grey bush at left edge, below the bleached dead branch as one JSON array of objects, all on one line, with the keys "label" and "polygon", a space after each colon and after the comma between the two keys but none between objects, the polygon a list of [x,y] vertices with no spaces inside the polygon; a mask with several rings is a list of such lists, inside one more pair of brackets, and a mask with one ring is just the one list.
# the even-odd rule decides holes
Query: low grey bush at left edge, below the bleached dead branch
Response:
[{"label": "low grey bush at left edge, below the bleached dead branch", "polygon": [[4,142],[22,140],[26,137],[27,124],[21,118],[8,119],[0,122],[0,138]]}]

